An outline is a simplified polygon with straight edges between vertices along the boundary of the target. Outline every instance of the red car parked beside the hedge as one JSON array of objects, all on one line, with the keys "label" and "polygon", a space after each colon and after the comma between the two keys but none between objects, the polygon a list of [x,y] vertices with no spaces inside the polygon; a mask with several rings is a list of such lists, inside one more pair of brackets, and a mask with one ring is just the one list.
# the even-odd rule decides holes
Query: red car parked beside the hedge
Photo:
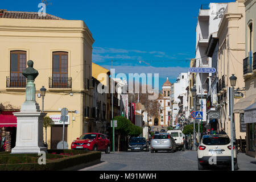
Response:
[{"label": "red car parked beside the hedge", "polygon": [[105,151],[110,153],[110,140],[105,134],[101,133],[85,133],[80,138],[73,140],[71,149],[75,150],[90,150],[90,151]]}]

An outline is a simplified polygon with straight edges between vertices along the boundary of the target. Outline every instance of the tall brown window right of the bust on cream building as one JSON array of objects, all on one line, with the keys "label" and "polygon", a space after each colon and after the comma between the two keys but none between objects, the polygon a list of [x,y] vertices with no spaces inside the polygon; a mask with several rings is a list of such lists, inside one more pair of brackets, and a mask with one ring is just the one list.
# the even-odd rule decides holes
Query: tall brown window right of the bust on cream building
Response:
[{"label": "tall brown window right of the bust on cream building", "polygon": [[52,84],[57,88],[68,85],[68,52],[53,52]]}]

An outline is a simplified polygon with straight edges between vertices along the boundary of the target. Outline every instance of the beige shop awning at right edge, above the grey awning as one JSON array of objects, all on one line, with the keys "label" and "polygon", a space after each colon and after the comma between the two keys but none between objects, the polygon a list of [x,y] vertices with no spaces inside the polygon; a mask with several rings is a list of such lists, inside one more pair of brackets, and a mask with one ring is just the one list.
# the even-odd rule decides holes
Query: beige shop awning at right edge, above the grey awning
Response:
[{"label": "beige shop awning at right edge, above the grey awning", "polygon": [[256,99],[256,94],[253,94],[251,96],[241,98],[237,104],[234,105],[233,113],[244,113],[244,109],[246,107],[249,107]]}]

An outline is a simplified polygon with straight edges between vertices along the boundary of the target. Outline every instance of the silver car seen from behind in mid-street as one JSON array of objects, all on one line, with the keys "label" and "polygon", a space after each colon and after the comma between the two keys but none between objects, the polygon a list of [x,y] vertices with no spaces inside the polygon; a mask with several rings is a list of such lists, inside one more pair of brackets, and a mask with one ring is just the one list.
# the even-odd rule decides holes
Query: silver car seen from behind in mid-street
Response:
[{"label": "silver car seen from behind in mid-street", "polygon": [[155,134],[151,139],[150,147],[151,153],[154,153],[154,151],[158,152],[159,150],[170,152],[175,152],[177,150],[175,139],[168,133]]}]

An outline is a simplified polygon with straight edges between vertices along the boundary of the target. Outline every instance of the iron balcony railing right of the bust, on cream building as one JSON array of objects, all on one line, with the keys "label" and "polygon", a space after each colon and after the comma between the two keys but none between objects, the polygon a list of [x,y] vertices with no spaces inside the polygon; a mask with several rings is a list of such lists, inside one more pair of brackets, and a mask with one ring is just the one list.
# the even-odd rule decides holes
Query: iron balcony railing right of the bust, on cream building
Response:
[{"label": "iron balcony railing right of the bust, on cream building", "polygon": [[72,78],[71,77],[49,77],[49,88],[71,89]]}]

